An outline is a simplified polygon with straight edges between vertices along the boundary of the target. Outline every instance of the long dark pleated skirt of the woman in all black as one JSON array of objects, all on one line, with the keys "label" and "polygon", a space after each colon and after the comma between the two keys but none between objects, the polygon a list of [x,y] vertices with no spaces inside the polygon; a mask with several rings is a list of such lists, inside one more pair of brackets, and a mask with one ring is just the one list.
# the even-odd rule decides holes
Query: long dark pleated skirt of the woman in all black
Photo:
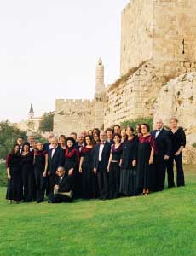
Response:
[{"label": "long dark pleated skirt of the woman in all black", "polygon": [[119,192],[126,196],[137,195],[135,168],[121,170]]}]

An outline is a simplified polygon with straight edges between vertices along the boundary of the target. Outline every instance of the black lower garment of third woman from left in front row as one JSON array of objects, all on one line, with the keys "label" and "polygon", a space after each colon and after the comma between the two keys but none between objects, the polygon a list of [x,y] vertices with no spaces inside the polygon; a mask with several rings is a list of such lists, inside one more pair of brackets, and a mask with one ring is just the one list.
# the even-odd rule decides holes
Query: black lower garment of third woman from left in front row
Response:
[{"label": "black lower garment of third woman from left in front row", "polygon": [[35,181],[36,181],[36,199],[37,201],[44,200],[44,193],[46,189],[46,177],[43,177],[43,172],[34,169]]}]

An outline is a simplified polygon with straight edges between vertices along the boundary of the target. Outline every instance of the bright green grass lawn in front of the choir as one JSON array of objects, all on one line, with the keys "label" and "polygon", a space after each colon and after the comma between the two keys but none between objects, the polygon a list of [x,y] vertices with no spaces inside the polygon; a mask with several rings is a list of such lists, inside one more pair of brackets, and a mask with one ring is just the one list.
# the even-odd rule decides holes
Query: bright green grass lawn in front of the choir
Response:
[{"label": "bright green grass lawn in front of the choir", "polygon": [[185,188],[113,201],[8,205],[0,189],[0,255],[196,255],[196,166]]}]

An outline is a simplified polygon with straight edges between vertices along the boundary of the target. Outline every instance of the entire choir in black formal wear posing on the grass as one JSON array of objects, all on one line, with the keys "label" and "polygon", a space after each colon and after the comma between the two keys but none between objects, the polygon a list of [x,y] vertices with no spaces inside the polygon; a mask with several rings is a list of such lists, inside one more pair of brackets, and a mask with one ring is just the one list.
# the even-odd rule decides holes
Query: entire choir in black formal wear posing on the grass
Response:
[{"label": "entire choir in black formal wear posing on the grass", "polygon": [[113,199],[120,196],[148,195],[168,187],[184,186],[182,149],[186,136],[176,118],[170,119],[170,130],[162,119],[149,125],[114,125],[106,131],[82,131],[79,136],[59,139],[49,134],[49,142],[19,137],[9,153],[6,165],[9,203],[71,202],[73,198]]}]

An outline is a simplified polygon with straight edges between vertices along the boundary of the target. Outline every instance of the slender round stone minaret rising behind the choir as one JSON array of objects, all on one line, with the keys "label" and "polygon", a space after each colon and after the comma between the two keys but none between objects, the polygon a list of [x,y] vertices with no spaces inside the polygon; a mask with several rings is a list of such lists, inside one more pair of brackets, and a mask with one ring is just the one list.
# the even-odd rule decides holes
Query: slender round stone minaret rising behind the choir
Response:
[{"label": "slender round stone minaret rising behind the choir", "polygon": [[104,66],[101,58],[96,64],[95,71],[95,127],[102,128],[104,118]]}]

